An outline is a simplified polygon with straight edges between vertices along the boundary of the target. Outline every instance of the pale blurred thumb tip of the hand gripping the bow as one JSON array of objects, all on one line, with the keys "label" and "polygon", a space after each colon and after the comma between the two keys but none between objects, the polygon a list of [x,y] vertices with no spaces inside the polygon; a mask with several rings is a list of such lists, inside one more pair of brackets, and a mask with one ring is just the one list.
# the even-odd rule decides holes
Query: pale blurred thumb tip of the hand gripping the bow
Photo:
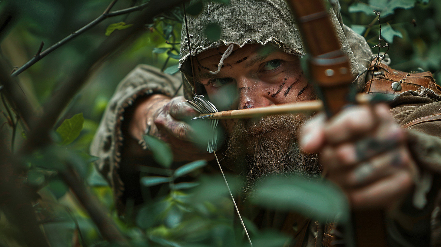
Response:
[{"label": "pale blurred thumb tip of the hand gripping the bow", "polygon": [[317,153],[325,144],[325,121],[326,116],[321,113],[308,120],[300,129],[299,145],[303,152]]}]

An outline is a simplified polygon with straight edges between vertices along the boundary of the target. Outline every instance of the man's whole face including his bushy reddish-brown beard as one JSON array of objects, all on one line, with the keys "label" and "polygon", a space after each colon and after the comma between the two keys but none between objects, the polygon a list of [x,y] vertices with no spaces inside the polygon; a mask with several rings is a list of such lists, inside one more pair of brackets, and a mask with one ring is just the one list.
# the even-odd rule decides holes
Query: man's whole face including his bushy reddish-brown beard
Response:
[{"label": "man's whole face including his bushy reddish-brown beard", "polygon": [[[273,46],[235,46],[217,66],[226,46],[198,54],[194,61],[197,82],[204,85],[209,100],[219,111],[258,108],[314,99],[297,56]],[[248,173],[258,177],[268,172],[310,170],[297,147],[303,115],[268,116],[252,120],[224,120],[228,132],[227,155],[245,159]],[[308,161],[309,162],[309,161]],[[302,163],[302,164],[299,164]]]}]

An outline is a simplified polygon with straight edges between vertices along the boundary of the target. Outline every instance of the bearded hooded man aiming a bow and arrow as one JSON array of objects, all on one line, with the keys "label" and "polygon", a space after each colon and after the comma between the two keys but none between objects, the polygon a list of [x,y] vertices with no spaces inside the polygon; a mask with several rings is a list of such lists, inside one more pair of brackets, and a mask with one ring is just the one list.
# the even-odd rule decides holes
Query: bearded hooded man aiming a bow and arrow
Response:
[{"label": "bearded hooded man aiming a bow and arrow", "polygon": [[[366,41],[341,23],[338,3],[333,3],[333,24],[351,62],[351,73],[357,75],[369,67],[373,55]],[[221,27],[218,41],[209,40],[203,33],[204,27],[212,23]],[[188,16],[188,37],[185,28],[180,62],[187,99],[195,90],[202,90],[219,110],[228,110],[316,98],[300,67],[299,56],[305,52],[284,1],[232,0],[231,5],[208,1],[201,13]],[[376,80],[372,82],[366,74],[359,77],[355,87],[361,92],[365,82],[369,82],[372,86],[366,87],[366,92],[380,92],[375,91],[374,82],[389,83],[387,79],[394,71],[385,65],[376,67]],[[408,81],[410,77],[405,75]],[[198,113],[185,104],[184,97],[172,98],[178,83],[170,76],[140,66],[122,82],[109,103],[92,154],[101,158],[99,168],[117,198],[133,197],[136,202],[140,194],[130,166],[142,164],[150,155],[138,145],[142,144],[142,135],[168,142],[175,161],[213,159],[212,154],[194,144],[195,130],[183,121]],[[412,213],[436,213],[434,209],[438,208],[433,193],[437,193],[434,178],[441,167],[437,160],[441,132],[434,120],[439,120],[441,97],[434,91],[437,89],[433,79],[429,78],[424,86],[400,94],[393,109],[385,104],[355,106],[329,121],[318,114],[304,126],[306,118],[302,115],[223,120],[221,125],[228,140],[221,151],[225,150],[229,160],[246,164],[240,169],[250,183],[273,172],[321,172],[342,188],[355,210],[396,210],[401,206],[400,217],[405,220],[392,217],[394,221],[388,225],[390,241],[428,245],[430,217],[421,217],[418,224],[409,223]],[[399,94],[394,90],[391,93]],[[319,161],[315,153],[320,153]],[[411,198],[407,204],[403,202],[405,198]],[[436,223],[437,215],[432,219]],[[420,226],[427,229],[415,229]],[[432,229],[432,243],[440,237],[435,230]],[[304,241],[308,246],[313,244],[314,234]]]}]

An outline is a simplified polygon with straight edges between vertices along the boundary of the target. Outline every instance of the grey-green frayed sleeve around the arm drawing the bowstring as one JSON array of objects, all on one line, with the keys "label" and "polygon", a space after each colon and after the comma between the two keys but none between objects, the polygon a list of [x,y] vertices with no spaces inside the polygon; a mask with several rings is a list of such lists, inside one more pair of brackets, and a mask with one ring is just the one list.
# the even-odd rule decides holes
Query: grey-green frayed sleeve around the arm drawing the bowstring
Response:
[{"label": "grey-green frayed sleeve around the arm drawing the bowstring", "polygon": [[[118,173],[123,145],[122,125],[125,110],[141,98],[152,94],[176,96],[182,79],[166,75],[158,68],[140,64],[117,86],[90,146],[90,154],[99,158],[97,169],[108,181],[116,205],[122,195],[123,182]],[[181,90],[182,91],[182,90]],[[182,94],[182,93],[181,93]]]}]

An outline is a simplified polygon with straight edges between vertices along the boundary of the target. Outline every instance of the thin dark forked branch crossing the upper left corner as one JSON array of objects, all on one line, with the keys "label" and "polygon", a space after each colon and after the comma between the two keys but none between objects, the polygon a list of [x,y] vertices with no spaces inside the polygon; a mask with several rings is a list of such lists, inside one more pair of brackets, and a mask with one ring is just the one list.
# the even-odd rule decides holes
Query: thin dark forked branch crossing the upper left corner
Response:
[{"label": "thin dark forked branch crossing the upper left corner", "polygon": [[76,30],[72,34],[69,34],[68,36],[64,37],[64,39],[56,42],[54,45],[51,45],[48,49],[45,49],[43,52],[37,52],[37,54],[33,58],[31,58],[29,61],[27,61],[21,67],[19,67],[16,71],[14,71],[11,74],[11,76],[15,77],[15,76],[19,75],[20,73],[22,73],[23,71],[25,71],[26,69],[28,69],[29,67],[31,67],[32,65],[37,63],[38,61],[40,61],[43,57],[49,55],[49,53],[51,53],[51,52],[55,51],[56,49],[60,48],[60,46],[66,44],[68,41],[71,41],[73,38],[77,37],[78,35],[86,32],[87,30],[89,30],[92,27],[96,26],[97,24],[99,24],[103,20],[107,19],[108,17],[117,16],[117,15],[123,15],[123,14],[127,14],[127,13],[130,13],[130,12],[142,10],[143,8],[145,8],[145,7],[147,7],[149,5],[149,3],[145,3],[145,4],[140,4],[138,6],[135,6],[135,7],[130,7],[130,8],[122,9],[120,11],[109,12],[110,9],[113,7],[113,5],[116,3],[116,1],[117,0],[113,0],[112,3],[110,3],[108,5],[108,7],[106,8],[106,10],[104,11],[103,14],[101,14],[100,16],[98,16],[96,19],[94,19],[93,21],[89,22],[88,24],[86,24],[86,26],[83,26],[82,28]]}]

